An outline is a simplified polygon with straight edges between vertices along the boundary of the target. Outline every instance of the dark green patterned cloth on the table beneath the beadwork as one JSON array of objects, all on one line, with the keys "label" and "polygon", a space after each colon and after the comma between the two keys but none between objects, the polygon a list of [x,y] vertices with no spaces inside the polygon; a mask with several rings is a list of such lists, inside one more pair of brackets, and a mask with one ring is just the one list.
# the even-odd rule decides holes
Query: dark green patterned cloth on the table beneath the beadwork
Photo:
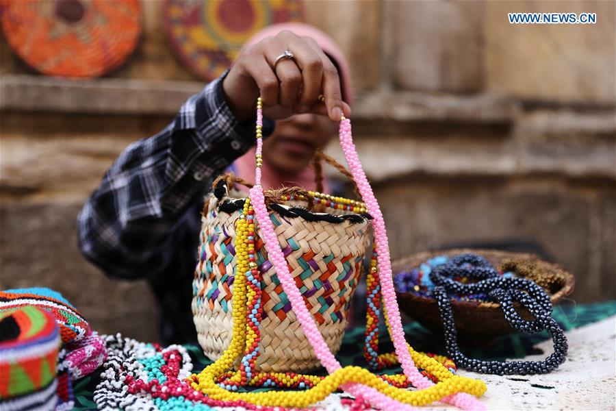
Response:
[{"label": "dark green patterned cloth on the table beneath the beadwork", "polygon": [[[554,319],[561,324],[565,331],[583,327],[591,323],[596,323],[609,316],[616,315],[616,301],[606,301],[602,303],[561,305],[554,308]],[[337,358],[343,366],[359,365],[366,366],[363,360],[363,326],[349,329],[344,335],[342,347],[337,354]],[[445,345],[442,336],[435,335],[415,322],[405,325],[407,340],[414,349],[431,353],[445,353]],[[511,334],[497,338],[493,342],[477,342],[476,347],[464,347],[463,351],[467,356],[482,360],[505,360],[524,358],[532,354],[541,354],[535,346],[541,341],[549,340],[550,336],[546,332],[526,335]],[[211,361],[205,358],[201,347],[194,345],[186,346],[190,351],[194,371],[201,371]],[[381,329],[381,343],[379,352],[385,353],[393,350],[393,345],[387,336],[385,329]],[[401,373],[399,367],[394,367],[381,371],[381,373]],[[318,374],[318,373],[316,373]],[[320,371],[325,375],[324,371]],[[75,393],[75,410],[91,410],[96,408],[96,403],[92,400],[94,388],[99,383],[100,372],[94,372],[90,376],[75,382],[73,387]],[[268,390],[268,388],[258,388],[255,391]]]}]

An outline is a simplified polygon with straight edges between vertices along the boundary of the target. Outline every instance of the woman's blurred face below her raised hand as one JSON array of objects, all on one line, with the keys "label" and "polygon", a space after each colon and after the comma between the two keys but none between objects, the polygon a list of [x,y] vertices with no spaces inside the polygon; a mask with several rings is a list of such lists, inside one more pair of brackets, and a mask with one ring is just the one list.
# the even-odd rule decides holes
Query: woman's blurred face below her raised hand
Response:
[{"label": "woman's blurred face below her raised hand", "polygon": [[264,140],[264,162],[279,173],[298,173],[309,164],[314,151],[324,148],[337,132],[337,123],[317,114],[296,114],[277,121],[274,133]]}]

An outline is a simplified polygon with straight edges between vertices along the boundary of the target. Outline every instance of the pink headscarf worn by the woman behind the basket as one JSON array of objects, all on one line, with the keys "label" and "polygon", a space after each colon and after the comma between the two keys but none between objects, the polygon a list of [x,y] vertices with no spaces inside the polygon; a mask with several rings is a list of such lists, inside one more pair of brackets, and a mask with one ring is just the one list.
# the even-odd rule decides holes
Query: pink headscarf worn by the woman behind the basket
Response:
[{"label": "pink headscarf worn by the woman behind the basket", "polygon": [[[342,88],[342,99],[352,105],[352,88],[351,77],[348,63],[344,58],[344,53],[339,49],[334,40],[320,29],[307,25],[305,23],[280,23],[270,25],[255,33],[244,45],[253,45],[256,42],[263,40],[269,36],[276,36],[283,30],[289,30],[294,32],[298,36],[308,36],[316,40],[321,49],[329,56],[332,62],[338,69],[338,75],[340,78],[340,86]],[[284,50],[280,50],[283,53]],[[238,177],[248,180],[248,182],[255,181],[255,148],[249,150],[242,157],[235,160],[233,166],[235,168],[235,174]],[[272,170],[268,166],[268,162],[264,161],[262,168],[261,184],[264,188],[281,188],[283,186],[300,186],[309,190],[315,190],[316,184],[314,182],[314,171],[312,169],[304,169],[296,175],[280,175],[276,171]],[[324,190],[329,191],[327,182],[324,182]]]}]

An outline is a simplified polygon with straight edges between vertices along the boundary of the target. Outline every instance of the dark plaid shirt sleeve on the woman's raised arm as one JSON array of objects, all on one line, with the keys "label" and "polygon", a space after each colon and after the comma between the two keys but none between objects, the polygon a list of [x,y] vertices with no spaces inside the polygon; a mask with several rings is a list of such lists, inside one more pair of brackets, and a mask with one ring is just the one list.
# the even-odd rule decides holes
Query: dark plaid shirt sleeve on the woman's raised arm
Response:
[{"label": "dark plaid shirt sleeve on the woman's raised arm", "polygon": [[79,213],[79,249],[108,275],[162,271],[160,256],[181,247],[172,242],[185,231],[185,214],[198,212],[194,204],[213,177],[254,144],[254,122],[236,121],[224,100],[224,75],[190,97],[162,132],[129,145]]}]

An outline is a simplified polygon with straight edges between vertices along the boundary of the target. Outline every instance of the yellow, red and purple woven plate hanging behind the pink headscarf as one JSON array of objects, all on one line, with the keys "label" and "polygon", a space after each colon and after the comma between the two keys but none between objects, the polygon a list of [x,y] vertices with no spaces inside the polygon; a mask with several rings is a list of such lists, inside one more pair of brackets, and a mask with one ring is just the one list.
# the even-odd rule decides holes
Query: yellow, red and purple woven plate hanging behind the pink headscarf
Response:
[{"label": "yellow, red and purple woven plate hanging behind the pink headscarf", "polygon": [[244,45],[263,27],[303,21],[300,0],[166,0],[168,41],[182,64],[211,81],[229,69]]}]

